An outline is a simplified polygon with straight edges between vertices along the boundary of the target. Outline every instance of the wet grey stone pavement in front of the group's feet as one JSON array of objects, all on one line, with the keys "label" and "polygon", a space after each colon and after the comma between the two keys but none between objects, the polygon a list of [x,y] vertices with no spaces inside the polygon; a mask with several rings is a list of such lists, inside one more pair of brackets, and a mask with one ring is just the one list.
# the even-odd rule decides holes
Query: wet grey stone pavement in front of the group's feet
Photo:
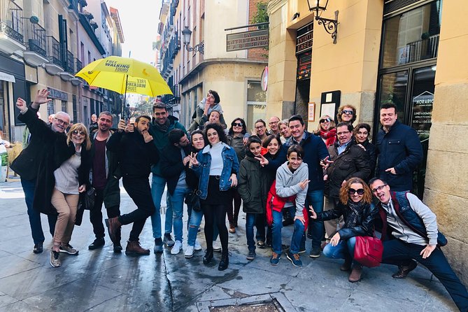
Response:
[{"label": "wet grey stone pavement in front of the group's feet", "polygon": [[[121,209],[134,209],[123,188]],[[87,211],[71,241],[79,255],[61,254],[62,267],[55,269],[49,263],[51,237],[44,215],[44,252],[32,253],[20,183],[0,183],[0,215],[0,311],[208,311],[271,299],[284,311],[457,311],[441,283],[420,266],[404,280],[391,277],[395,267],[364,269],[362,281],[349,283],[348,273],[339,270],[341,262],[323,256],[312,260],[303,254],[304,267],[296,268],[282,255],[272,267],[271,251],[257,249],[257,258],[248,262],[243,213],[241,227],[229,234],[232,255],[225,271],[218,271],[220,253],[208,267],[203,251],[188,260],[183,252],[171,255],[169,250],[127,257],[113,253],[107,236],[104,248],[87,250],[94,240]],[[129,226],[122,228],[123,239],[129,231]],[[291,227],[283,229],[283,243],[290,244],[291,232]],[[151,233],[148,220],[141,245],[153,250]],[[205,246],[203,232],[199,240]],[[309,251],[310,241],[306,247]]]}]

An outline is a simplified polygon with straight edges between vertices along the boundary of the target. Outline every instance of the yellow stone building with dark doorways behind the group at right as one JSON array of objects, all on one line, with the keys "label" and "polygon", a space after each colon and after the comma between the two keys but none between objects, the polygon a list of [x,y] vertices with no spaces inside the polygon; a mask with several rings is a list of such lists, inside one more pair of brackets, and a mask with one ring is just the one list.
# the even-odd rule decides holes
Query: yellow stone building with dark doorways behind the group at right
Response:
[{"label": "yellow stone building with dark doorways behind the group at right", "polygon": [[357,122],[368,122],[374,136],[378,108],[396,104],[399,121],[416,129],[424,148],[413,191],[437,214],[449,239],[444,252],[465,283],[468,150],[447,136],[468,130],[462,113],[468,97],[462,56],[467,10],[462,0],[329,1],[320,17],[333,20],[337,11],[334,44],[308,1],[271,0],[267,91],[267,116],[301,113],[316,129],[320,115],[336,118],[337,108],[350,104]]}]

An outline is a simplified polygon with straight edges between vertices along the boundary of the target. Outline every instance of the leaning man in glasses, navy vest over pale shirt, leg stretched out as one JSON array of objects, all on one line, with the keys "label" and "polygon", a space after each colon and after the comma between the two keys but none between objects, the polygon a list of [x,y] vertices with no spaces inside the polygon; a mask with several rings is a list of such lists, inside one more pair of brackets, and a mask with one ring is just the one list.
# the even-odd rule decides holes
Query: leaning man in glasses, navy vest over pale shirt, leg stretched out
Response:
[{"label": "leaning man in glasses, navy vest over pale shirt, leg stretched out", "polygon": [[396,264],[399,268],[392,277],[405,278],[419,262],[444,285],[458,309],[468,311],[467,288],[440,248],[447,240],[437,229],[436,215],[416,195],[395,192],[380,178],[371,179],[369,186],[380,201],[377,208],[383,222],[382,263]]}]

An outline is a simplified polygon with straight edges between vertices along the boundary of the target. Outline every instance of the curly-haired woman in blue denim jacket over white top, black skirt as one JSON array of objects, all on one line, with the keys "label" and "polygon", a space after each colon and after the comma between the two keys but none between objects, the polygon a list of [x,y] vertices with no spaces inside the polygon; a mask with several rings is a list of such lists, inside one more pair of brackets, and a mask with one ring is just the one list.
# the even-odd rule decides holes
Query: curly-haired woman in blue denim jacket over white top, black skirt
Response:
[{"label": "curly-haired woman in blue denim jacket over white top, black skirt", "polygon": [[192,169],[200,177],[198,192],[205,217],[206,254],[203,263],[208,264],[213,259],[213,224],[216,223],[222,246],[218,270],[222,271],[229,264],[226,211],[232,200],[230,189],[237,185],[239,160],[234,148],[227,145],[221,125],[206,125],[204,137],[208,145],[191,160]]}]

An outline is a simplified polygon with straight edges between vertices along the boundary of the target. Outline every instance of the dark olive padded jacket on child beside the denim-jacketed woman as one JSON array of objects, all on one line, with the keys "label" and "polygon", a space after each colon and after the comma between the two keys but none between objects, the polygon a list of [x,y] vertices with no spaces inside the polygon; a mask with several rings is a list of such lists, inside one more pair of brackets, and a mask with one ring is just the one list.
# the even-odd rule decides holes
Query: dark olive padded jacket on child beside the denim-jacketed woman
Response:
[{"label": "dark olive padded jacket on child beside the denim-jacketed woman", "polygon": [[264,213],[270,186],[267,183],[267,172],[250,152],[247,154],[241,161],[237,177],[237,191],[242,197],[243,212]]}]

